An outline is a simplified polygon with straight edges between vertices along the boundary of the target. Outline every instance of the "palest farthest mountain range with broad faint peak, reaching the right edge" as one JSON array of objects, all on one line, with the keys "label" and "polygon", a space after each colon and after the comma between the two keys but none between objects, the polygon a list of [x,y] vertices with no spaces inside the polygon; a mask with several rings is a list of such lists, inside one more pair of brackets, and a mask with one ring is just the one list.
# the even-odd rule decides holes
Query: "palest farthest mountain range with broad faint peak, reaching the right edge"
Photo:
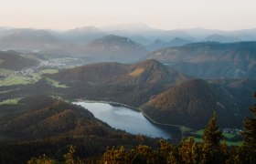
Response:
[{"label": "palest farthest mountain range with broad faint peak, reaching the right edge", "polygon": [[[256,28],[241,29],[236,31],[224,31],[205,28],[179,28],[174,30],[161,30],[145,24],[121,24],[101,27],[102,31],[111,32],[115,35],[131,37],[134,41],[143,45],[149,45],[155,40],[168,42],[180,37],[193,42],[216,41],[220,43],[237,41],[256,41]],[[136,38],[141,39],[142,42]]]}]

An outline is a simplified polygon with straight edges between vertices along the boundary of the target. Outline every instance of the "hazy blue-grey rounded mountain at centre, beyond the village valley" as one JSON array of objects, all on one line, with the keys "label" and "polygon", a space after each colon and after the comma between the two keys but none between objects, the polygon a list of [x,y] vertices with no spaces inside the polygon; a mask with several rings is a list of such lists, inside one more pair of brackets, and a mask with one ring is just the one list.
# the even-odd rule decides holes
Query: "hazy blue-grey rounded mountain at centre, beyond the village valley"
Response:
[{"label": "hazy blue-grey rounded mountain at centre, beyond the village valley", "polygon": [[97,61],[118,61],[130,63],[142,58],[146,51],[144,46],[123,36],[103,36],[87,45],[80,46],[80,52]]}]

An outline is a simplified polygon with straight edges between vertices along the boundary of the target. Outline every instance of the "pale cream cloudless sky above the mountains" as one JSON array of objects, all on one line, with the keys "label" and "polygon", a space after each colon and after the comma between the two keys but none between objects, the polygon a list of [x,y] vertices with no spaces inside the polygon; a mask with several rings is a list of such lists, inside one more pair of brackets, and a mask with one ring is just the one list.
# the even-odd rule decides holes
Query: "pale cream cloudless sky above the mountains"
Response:
[{"label": "pale cream cloudless sky above the mountains", "polygon": [[256,0],[0,0],[0,26],[65,30],[130,23],[251,29],[256,28]]}]

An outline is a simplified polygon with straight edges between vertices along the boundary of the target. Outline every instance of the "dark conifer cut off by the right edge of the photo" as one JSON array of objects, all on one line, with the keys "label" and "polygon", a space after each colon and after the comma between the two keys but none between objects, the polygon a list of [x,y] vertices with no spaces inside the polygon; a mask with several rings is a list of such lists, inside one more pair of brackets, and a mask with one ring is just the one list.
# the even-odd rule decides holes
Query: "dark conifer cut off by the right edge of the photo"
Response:
[{"label": "dark conifer cut off by the right edge of the photo", "polygon": [[[254,97],[256,97],[256,92]],[[244,130],[241,132],[241,135],[244,139],[243,146],[256,151],[256,104],[250,110],[253,116],[252,118],[245,119]]]}]

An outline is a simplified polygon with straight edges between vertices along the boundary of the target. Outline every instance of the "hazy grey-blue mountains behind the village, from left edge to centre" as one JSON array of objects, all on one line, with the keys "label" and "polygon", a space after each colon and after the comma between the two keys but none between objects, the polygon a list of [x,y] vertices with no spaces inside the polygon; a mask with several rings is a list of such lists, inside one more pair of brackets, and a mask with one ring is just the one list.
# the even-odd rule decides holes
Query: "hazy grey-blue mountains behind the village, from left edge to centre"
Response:
[{"label": "hazy grey-blue mountains behind the village, from left edge to centre", "polygon": [[146,53],[144,46],[130,38],[105,35],[95,27],[77,28],[64,33],[7,29],[0,31],[0,49],[53,57],[83,56],[90,57],[94,62],[134,62]]}]

